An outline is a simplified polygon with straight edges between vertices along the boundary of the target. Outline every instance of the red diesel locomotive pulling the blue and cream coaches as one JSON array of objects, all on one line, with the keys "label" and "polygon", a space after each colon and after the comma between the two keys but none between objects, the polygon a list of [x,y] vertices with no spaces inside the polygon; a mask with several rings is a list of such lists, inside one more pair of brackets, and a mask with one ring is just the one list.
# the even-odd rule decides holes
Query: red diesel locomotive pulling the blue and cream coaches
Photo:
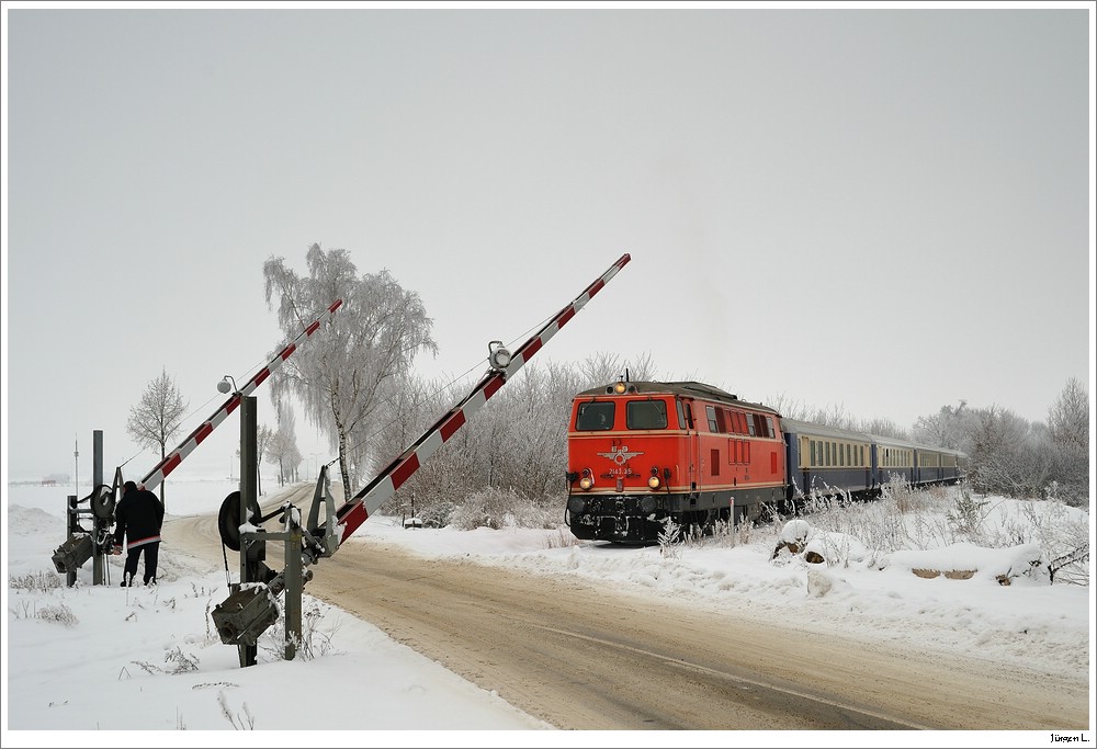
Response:
[{"label": "red diesel locomotive pulling the blue and cream coaches", "polygon": [[[695,382],[621,381],[572,404],[567,523],[581,540],[649,543],[672,518],[711,527],[785,497],[780,415]],[[748,514],[749,513],[749,514]]]}]

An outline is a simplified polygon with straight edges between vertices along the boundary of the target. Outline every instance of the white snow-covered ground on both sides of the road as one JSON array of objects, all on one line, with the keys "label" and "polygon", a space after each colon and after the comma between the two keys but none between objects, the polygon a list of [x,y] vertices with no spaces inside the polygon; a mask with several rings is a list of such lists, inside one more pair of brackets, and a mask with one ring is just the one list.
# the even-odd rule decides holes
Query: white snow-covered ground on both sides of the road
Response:
[{"label": "white snow-covered ground on both sides of the road", "polygon": [[[215,512],[236,488],[228,480],[173,480],[168,487],[169,517]],[[554,731],[374,626],[308,597],[306,612],[314,614],[312,657],[283,661],[272,627],[260,643],[259,666],[241,669],[236,648],[220,643],[208,613],[228,593],[225,570],[210,570],[208,564],[173,547],[170,536],[161,551],[156,588],[120,589],[121,557],[111,558],[111,586],[91,585],[89,561],[79,572],[79,585],[64,587],[50,556],[65,537],[65,495],[70,492],[71,488],[4,487],[5,747],[116,746],[120,737],[115,735],[112,744],[111,733],[125,729],[158,731],[149,740],[169,746],[194,741],[189,730],[234,729],[248,731],[234,740],[249,746],[303,741],[657,746],[666,741],[647,734]],[[1026,522],[1042,522],[1034,508],[1093,536],[1092,520],[1077,510],[1047,502],[986,500],[983,526],[989,534],[1008,536]],[[927,526],[924,517],[919,523],[917,537],[945,536],[943,525]],[[795,525],[789,526],[792,530]],[[749,537],[736,538],[734,546],[730,538],[716,538],[674,549],[627,548],[574,543],[566,529],[404,530],[400,519],[375,517],[348,543],[383,538],[417,554],[597,579],[647,590],[660,599],[734,609],[740,616],[799,617],[819,632],[921,644],[945,657],[962,652],[1051,673],[1088,673],[1092,693],[1093,588],[1051,586],[1040,575],[1020,574],[1033,555],[1031,544],[999,549],[951,544],[885,555],[866,548],[850,533],[822,534],[816,529],[807,551],[840,559],[826,566],[810,565],[802,555],[788,552],[771,558],[780,531],[755,529]],[[235,559],[229,568],[235,576]],[[972,576],[926,578],[915,569],[966,570]],[[999,585],[998,576],[1008,576],[1011,585]],[[1093,720],[1090,708],[1089,731],[1071,734],[1079,736],[1083,746],[1093,746]],[[276,733],[306,728],[324,734],[308,738]],[[378,733],[363,738],[362,730]],[[121,740],[132,738],[126,734]],[[963,734],[961,739],[965,746],[1052,742],[1042,731]],[[698,733],[675,740],[704,746],[762,741],[879,746],[880,738]],[[925,737],[889,735],[887,744],[921,746]]]}]

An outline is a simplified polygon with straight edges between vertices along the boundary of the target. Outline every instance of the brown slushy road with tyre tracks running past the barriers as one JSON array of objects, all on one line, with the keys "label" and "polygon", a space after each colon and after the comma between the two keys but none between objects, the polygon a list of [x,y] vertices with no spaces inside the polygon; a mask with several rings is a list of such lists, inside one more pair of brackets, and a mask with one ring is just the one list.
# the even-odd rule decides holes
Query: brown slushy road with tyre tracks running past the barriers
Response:
[{"label": "brown slushy road with tyre tracks running past the barriers", "polygon": [[[172,522],[181,544],[222,560],[214,518]],[[271,544],[268,563],[280,559]],[[1031,730],[1088,718],[1072,707],[1087,704],[1077,681],[963,658],[942,668],[940,654],[373,540],[313,569],[307,594],[561,728]]]}]

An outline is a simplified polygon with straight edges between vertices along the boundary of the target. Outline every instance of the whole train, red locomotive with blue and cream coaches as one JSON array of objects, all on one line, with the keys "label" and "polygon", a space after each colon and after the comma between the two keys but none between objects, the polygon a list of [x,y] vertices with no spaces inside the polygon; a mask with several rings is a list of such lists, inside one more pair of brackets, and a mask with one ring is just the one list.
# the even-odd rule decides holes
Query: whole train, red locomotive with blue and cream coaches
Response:
[{"label": "whole train, red locomotive with blue and cream coaches", "polygon": [[565,520],[580,540],[646,544],[668,519],[709,530],[758,519],[812,492],[879,495],[955,483],[965,455],[784,419],[697,382],[630,382],[572,402]]}]

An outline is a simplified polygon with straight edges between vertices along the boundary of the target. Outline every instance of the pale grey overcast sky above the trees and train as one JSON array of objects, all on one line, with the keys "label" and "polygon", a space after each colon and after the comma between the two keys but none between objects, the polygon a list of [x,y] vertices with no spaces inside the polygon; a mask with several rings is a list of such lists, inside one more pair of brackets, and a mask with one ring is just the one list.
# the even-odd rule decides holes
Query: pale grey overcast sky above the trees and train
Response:
[{"label": "pale grey overcast sky above the trees and train", "polygon": [[[95,429],[112,475],[165,367],[183,433],[211,416],[284,342],[263,261],[304,274],[314,242],[420,294],[425,376],[478,374],[629,252],[535,362],[649,353],[901,427],[1043,420],[1093,379],[1092,3],[4,21],[10,478],[72,473],[77,440],[89,476]],[[228,474],[238,438],[180,470]]]}]

